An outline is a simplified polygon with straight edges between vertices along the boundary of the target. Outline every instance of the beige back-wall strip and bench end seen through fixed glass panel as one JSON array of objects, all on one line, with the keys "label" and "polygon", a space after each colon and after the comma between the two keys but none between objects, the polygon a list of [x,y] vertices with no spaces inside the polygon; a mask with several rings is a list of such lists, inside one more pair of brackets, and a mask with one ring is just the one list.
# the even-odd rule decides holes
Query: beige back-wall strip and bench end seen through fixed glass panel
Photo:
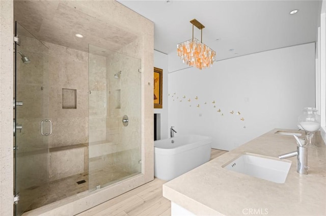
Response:
[{"label": "beige back-wall strip and bench end seen through fixed glass panel", "polygon": [[105,56],[93,54],[98,47],[90,45],[89,57],[89,172],[90,189],[98,184],[93,173],[107,166],[113,165],[111,154],[115,152],[115,144],[106,138],[106,117],[108,103],[108,83]]}]

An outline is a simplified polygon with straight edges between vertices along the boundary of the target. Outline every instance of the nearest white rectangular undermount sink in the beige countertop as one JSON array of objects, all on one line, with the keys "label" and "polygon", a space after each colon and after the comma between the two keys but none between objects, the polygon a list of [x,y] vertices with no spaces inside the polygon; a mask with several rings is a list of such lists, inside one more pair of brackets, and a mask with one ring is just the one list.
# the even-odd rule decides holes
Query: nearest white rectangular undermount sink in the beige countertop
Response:
[{"label": "nearest white rectangular undermount sink in the beige countertop", "polygon": [[280,161],[278,158],[246,152],[222,167],[256,178],[284,183],[291,163],[289,160]]}]

